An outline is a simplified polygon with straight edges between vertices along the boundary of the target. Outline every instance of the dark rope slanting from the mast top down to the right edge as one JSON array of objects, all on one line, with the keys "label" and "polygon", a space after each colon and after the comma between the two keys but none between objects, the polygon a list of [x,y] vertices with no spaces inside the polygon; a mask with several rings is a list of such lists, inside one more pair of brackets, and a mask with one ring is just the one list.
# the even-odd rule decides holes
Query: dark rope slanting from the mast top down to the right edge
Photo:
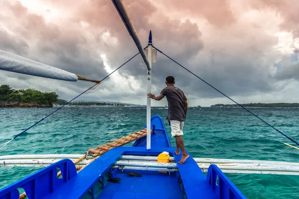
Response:
[{"label": "dark rope slanting from the mast top down to the right edge", "polygon": [[190,70],[186,69],[181,64],[177,63],[175,60],[173,60],[172,58],[170,58],[169,56],[167,56],[165,53],[163,53],[162,51],[160,51],[156,47],[154,47],[154,46],[152,46],[152,47],[154,49],[156,49],[157,51],[159,51],[160,53],[162,53],[163,55],[165,55],[167,58],[169,58],[173,62],[175,62],[176,64],[178,64],[180,67],[182,67],[183,69],[185,69],[186,71],[188,71],[189,73],[191,73],[192,75],[194,75],[195,77],[197,77],[198,79],[200,79],[201,81],[203,81],[204,83],[206,83],[207,85],[209,85],[210,87],[212,87],[213,89],[215,89],[216,91],[218,91],[219,93],[221,93],[222,95],[224,95],[225,97],[227,97],[228,99],[232,100],[233,102],[235,102],[236,104],[238,104],[239,106],[241,106],[242,108],[244,108],[245,110],[247,110],[248,112],[250,112],[251,114],[253,114],[254,116],[256,116],[257,118],[259,118],[261,121],[263,121],[264,123],[266,123],[267,125],[269,125],[273,129],[275,129],[277,132],[281,133],[283,136],[285,136],[286,138],[288,138],[289,140],[291,140],[292,142],[294,142],[295,144],[297,144],[299,146],[299,143],[296,142],[295,140],[293,140],[291,137],[289,137],[285,133],[281,132],[280,130],[278,130],[277,128],[275,128],[274,126],[272,126],[271,124],[269,124],[268,122],[266,122],[265,120],[263,120],[262,118],[260,118],[259,116],[257,116],[256,114],[254,114],[253,112],[251,112],[250,110],[248,110],[247,108],[245,108],[244,106],[242,106],[241,104],[239,104],[238,102],[236,102],[235,100],[233,100],[230,97],[228,97],[227,95],[225,95],[224,93],[222,93],[221,91],[219,91],[218,89],[216,89],[215,87],[213,87],[212,85],[210,85],[209,83],[207,83],[206,81],[204,81],[203,79],[201,79],[200,77],[198,77],[197,75],[195,75],[194,73],[192,73]]}]

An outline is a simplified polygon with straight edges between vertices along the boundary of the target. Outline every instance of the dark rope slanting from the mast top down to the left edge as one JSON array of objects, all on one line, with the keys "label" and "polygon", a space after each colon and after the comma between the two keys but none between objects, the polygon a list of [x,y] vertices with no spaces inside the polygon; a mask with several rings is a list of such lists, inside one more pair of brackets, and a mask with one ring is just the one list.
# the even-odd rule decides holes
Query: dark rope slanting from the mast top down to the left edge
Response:
[{"label": "dark rope slanting from the mast top down to the left edge", "polygon": [[[146,49],[149,45],[147,45],[144,49]],[[139,52],[140,53],[140,52]],[[134,57],[136,57],[139,53],[137,53],[136,55],[134,55],[132,58],[130,58],[128,61],[126,61],[124,64],[122,64],[120,67],[118,67],[117,69],[115,69],[112,73],[110,73],[109,75],[107,75],[103,80],[101,80],[100,82],[104,81],[106,78],[108,78],[110,75],[112,75],[114,72],[116,72],[117,70],[119,70],[122,66],[124,66],[125,64],[127,64],[129,61],[131,61]],[[20,136],[21,134],[23,134],[24,132],[26,132],[27,130],[29,130],[30,128],[32,128],[33,126],[35,126],[36,124],[38,124],[39,122],[41,122],[42,120],[44,120],[45,118],[47,118],[48,116],[52,115],[54,112],[56,112],[57,110],[61,109],[63,106],[67,105],[68,103],[70,103],[71,101],[75,100],[76,98],[80,97],[81,95],[83,95],[84,93],[86,93],[88,90],[92,89],[93,87],[95,87],[96,85],[98,85],[100,83],[97,83],[95,85],[93,85],[92,87],[88,88],[86,91],[84,91],[83,93],[81,93],[80,95],[78,95],[77,97],[73,98],[72,100],[66,102],[65,104],[63,104],[62,106],[60,106],[59,108],[57,108],[56,110],[54,110],[53,112],[51,112],[50,114],[48,114],[47,116],[45,116],[44,118],[41,118],[38,122],[35,122],[35,124],[33,124],[32,126],[26,128],[25,130],[23,130],[22,132],[20,132],[19,134],[15,135],[13,138],[11,138],[9,141],[3,143],[0,145],[0,149],[2,149],[4,146],[6,146],[10,141],[14,140],[15,138],[17,138],[18,136]]]}]

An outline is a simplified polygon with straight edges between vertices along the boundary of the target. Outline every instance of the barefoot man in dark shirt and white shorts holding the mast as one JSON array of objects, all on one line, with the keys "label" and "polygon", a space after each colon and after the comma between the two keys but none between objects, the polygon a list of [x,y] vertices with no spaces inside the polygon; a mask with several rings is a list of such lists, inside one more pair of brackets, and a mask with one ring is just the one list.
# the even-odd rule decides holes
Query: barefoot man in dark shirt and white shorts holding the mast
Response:
[{"label": "barefoot man in dark shirt and white shorts holding the mast", "polygon": [[184,121],[186,120],[186,114],[188,109],[187,98],[184,93],[177,87],[174,86],[174,77],[168,76],[166,77],[165,87],[161,94],[155,97],[152,94],[148,94],[148,97],[153,100],[162,100],[165,96],[168,101],[168,116],[167,120],[171,126],[171,136],[175,137],[176,150],[175,154],[179,155],[179,149],[182,151],[182,158],[178,162],[179,164],[183,164],[185,160],[189,157],[185,150],[184,142],[183,142],[183,126]]}]

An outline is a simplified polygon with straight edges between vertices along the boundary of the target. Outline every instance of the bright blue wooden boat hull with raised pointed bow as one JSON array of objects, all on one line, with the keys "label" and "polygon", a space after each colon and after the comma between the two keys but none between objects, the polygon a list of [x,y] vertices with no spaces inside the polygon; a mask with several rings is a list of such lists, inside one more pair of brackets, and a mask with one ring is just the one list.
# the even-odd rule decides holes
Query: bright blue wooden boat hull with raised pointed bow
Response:
[{"label": "bright blue wooden boat hull with raised pointed bow", "polygon": [[[190,157],[184,164],[177,164],[177,171],[124,170],[113,168],[123,155],[157,156],[169,152],[175,155],[160,116],[151,118],[153,132],[151,149],[146,149],[146,137],[137,140],[134,147],[117,147],[109,150],[79,173],[69,159],[45,167],[28,177],[0,190],[0,199],[18,199],[17,188],[23,188],[28,199],[245,199],[216,165],[208,169],[207,177]],[[57,169],[62,179],[56,178]],[[130,177],[127,172],[136,172],[141,177]],[[116,183],[108,179],[120,178]]]}]

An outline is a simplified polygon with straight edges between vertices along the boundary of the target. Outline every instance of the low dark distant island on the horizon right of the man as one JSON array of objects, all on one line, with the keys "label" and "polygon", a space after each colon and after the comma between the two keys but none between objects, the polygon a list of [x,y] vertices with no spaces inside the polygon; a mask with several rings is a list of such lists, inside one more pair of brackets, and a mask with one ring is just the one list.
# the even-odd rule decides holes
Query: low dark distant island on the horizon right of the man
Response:
[{"label": "low dark distant island on the horizon right of the man", "polygon": [[[299,107],[299,103],[242,103],[244,107]],[[214,104],[211,107],[240,107],[238,104]]]}]

